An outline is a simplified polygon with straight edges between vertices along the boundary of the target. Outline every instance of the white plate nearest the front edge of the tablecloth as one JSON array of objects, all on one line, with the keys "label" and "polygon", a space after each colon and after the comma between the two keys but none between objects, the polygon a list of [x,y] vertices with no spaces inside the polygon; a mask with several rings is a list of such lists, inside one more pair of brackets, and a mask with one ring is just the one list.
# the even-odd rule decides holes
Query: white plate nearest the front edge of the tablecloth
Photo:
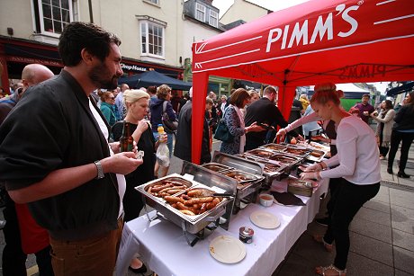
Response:
[{"label": "white plate nearest the front edge of the tablecloth", "polygon": [[238,263],[246,256],[246,247],[232,236],[218,236],[210,243],[210,254],[221,263]]}]

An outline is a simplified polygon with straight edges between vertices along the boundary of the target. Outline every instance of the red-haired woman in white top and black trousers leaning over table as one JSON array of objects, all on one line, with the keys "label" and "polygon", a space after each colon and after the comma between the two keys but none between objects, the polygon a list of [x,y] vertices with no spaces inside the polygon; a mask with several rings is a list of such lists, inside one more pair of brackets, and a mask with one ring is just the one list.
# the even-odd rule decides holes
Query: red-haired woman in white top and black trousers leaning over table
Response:
[{"label": "red-haired woman in white top and black trousers leaning over table", "polygon": [[324,236],[314,236],[328,251],[334,241],[337,248],[333,264],[316,268],[320,275],[346,275],[350,245],[349,224],[365,202],[378,193],[381,181],[374,131],[363,120],[351,116],[340,107],[335,88],[330,83],[316,85],[311,107],[322,120],[333,120],[338,126],[338,154],[308,167],[301,174],[302,180],[342,177],[328,229]]}]

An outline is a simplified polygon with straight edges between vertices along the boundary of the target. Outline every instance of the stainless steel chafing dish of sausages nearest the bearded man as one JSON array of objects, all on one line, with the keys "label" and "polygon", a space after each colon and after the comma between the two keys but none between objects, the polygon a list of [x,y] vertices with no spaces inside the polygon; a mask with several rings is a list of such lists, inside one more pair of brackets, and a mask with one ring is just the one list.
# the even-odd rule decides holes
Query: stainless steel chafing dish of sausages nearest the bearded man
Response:
[{"label": "stainless steel chafing dish of sausages nearest the bearded man", "polygon": [[[193,246],[200,238],[204,237],[205,228],[208,228],[209,230],[213,230],[216,227],[228,229],[238,183],[236,180],[222,174],[211,172],[201,166],[187,162],[184,162],[182,174],[189,174],[189,176],[193,177],[193,180],[186,179],[180,174],[170,174],[155,181],[142,184],[135,187],[135,189],[142,194],[143,200],[148,206],[157,210],[157,216],[149,218],[148,209],[146,205],[144,205],[149,220],[165,218],[173,222],[183,229],[188,245]],[[150,187],[154,187],[155,185],[166,181],[184,183],[184,185],[188,187],[183,191],[175,193],[175,196],[179,196],[192,189],[202,188],[211,190],[211,193],[213,194],[218,194],[217,196],[220,198],[220,203],[212,209],[207,209],[200,215],[185,215],[179,209],[172,207],[172,205],[166,202],[162,197],[158,197],[153,193],[148,192]],[[191,235],[194,235],[195,237],[192,239]]]}]

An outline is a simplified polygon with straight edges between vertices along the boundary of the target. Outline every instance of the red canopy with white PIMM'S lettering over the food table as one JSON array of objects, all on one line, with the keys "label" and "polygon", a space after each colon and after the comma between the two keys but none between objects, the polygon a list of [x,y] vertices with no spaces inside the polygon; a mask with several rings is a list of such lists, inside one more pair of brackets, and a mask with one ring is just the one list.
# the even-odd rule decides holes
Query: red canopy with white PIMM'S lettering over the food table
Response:
[{"label": "red canopy with white PIMM'S lettering over the food table", "polygon": [[193,163],[199,163],[208,76],[280,86],[414,79],[412,0],[312,0],[193,43]]}]

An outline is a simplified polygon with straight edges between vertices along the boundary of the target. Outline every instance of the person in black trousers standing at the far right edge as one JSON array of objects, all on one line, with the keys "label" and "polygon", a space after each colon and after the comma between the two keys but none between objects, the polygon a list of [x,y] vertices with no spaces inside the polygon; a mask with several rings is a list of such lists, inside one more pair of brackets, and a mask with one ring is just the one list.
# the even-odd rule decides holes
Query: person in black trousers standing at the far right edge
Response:
[{"label": "person in black trousers standing at the far right edge", "polygon": [[392,174],[392,164],[401,142],[401,157],[397,176],[410,178],[405,174],[405,166],[409,158],[409,150],[414,139],[414,92],[410,92],[404,99],[404,104],[394,118],[395,124],[392,127],[391,148],[388,156],[388,174]]}]

